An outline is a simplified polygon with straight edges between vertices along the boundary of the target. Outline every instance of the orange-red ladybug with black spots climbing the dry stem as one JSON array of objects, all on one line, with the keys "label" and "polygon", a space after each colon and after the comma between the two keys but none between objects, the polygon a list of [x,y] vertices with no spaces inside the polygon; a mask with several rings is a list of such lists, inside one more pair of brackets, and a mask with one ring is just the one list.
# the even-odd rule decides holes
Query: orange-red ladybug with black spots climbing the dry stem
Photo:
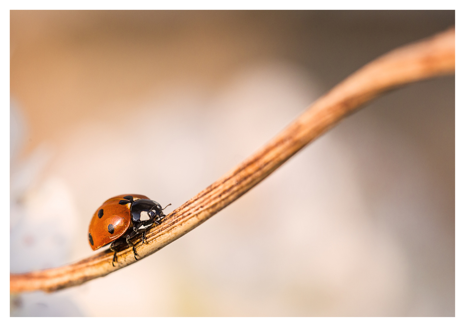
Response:
[{"label": "orange-red ladybug with black spots climbing the dry stem", "polygon": [[139,194],[123,194],[109,198],[95,211],[90,221],[90,247],[95,251],[112,242],[110,250],[114,252],[114,266],[114,262],[117,261],[116,247],[127,243],[133,247],[134,258],[138,260],[136,256],[139,254],[130,238],[142,234],[144,243],[146,232],[153,225],[160,225],[161,219],[166,216],[163,213],[165,208],[161,209],[158,202]]}]

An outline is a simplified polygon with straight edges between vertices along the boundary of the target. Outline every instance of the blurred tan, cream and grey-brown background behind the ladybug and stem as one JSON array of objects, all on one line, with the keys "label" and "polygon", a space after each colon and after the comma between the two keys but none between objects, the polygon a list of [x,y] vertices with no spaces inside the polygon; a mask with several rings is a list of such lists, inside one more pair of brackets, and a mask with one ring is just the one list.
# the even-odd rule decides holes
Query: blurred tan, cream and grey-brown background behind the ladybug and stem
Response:
[{"label": "blurred tan, cream and grey-brown background behind the ladybug and stem", "polygon": [[[94,252],[122,193],[172,211],[453,11],[11,11],[10,271]],[[205,224],[12,316],[453,316],[454,77],[346,118]],[[150,280],[140,287],[140,281]]]}]

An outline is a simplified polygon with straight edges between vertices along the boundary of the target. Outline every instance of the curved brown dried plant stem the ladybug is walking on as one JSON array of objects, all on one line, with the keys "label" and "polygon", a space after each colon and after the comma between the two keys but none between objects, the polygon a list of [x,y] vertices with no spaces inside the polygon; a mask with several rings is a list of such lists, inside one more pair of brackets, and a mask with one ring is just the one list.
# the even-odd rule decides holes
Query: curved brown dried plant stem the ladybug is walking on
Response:
[{"label": "curved brown dried plant stem the ladybug is walking on", "polygon": [[[453,28],[370,62],[319,98],[243,163],[166,216],[161,225],[147,233],[147,244],[137,241],[137,252],[141,258],[146,257],[199,226],[270,175],[306,144],[376,96],[407,83],[453,74],[454,70]],[[115,267],[112,259],[113,252],[106,250],[67,266],[10,274],[10,292],[52,292],[105,276],[136,261],[130,248],[118,253]]]}]

